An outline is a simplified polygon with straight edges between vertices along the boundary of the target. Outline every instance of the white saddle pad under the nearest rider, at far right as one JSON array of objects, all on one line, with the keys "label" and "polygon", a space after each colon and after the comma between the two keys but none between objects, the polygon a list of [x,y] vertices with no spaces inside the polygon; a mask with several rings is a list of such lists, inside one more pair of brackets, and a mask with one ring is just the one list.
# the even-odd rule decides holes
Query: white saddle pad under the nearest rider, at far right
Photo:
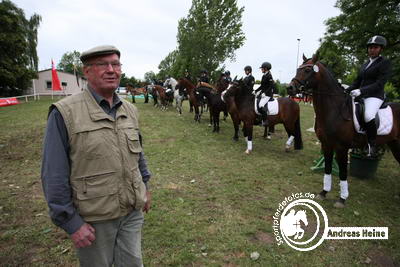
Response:
[{"label": "white saddle pad under the nearest rider, at far right", "polygon": [[[358,133],[365,134],[366,123],[364,121],[365,104],[364,99],[353,100],[353,121],[354,127]],[[375,115],[375,124],[378,135],[387,135],[393,127],[393,112],[392,108],[385,100],[379,111]]]}]

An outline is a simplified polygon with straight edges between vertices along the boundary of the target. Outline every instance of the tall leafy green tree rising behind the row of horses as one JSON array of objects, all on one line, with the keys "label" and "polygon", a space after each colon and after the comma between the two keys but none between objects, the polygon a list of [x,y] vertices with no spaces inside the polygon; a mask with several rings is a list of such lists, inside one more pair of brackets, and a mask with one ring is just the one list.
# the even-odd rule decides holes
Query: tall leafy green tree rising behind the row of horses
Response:
[{"label": "tall leafy green tree rising behind the row of horses", "polygon": [[159,65],[160,73],[192,77],[206,69],[217,78],[225,60],[235,59],[234,51],[244,44],[242,13],[236,0],[193,0],[186,18],[178,23],[178,48]]}]

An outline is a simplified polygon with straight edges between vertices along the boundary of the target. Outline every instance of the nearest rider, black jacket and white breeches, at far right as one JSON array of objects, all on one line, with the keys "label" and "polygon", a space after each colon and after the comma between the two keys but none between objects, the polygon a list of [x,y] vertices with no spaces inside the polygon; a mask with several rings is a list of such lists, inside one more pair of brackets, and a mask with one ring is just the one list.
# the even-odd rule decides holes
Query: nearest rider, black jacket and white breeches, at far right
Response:
[{"label": "nearest rider, black jacket and white breeches, at far right", "polygon": [[361,66],[356,80],[347,88],[352,97],[364,98],[364,121],[370,156],[376,154],[375,115],[385,98],[384,87],[391,69],[390,61],[380,55],[386,43],[386,39],[380,35],[375,35],[368,40],[369,60]]}]

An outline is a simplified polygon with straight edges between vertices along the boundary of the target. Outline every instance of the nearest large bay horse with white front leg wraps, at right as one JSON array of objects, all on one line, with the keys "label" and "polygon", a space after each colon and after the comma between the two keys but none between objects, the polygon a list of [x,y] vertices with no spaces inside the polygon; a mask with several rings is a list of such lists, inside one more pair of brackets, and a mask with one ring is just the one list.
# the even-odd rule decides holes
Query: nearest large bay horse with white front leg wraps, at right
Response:
[{"label": "nearest large bay horse with white front leg wraps, at right", "polygon": [[[352,98],[345,93],[333,74],[315,54],[311,59],[303,55],[304,62],[287,88],[289,94],[311,91],[315,112],[315,133],[321,142],[325,158],[323,190],[318,198],[326,199],[332,184],[332,160],[336,154],[339,165],[340,198],[334,207],[345,207],[349,195],[347,183],[348,151],[366,145],[365,135],[356,132],[353,121]],[[389,103],[393,113],[393,128],[388,135],[379,135],[377,144],[387,144],[400,163],[400,103]]]}]

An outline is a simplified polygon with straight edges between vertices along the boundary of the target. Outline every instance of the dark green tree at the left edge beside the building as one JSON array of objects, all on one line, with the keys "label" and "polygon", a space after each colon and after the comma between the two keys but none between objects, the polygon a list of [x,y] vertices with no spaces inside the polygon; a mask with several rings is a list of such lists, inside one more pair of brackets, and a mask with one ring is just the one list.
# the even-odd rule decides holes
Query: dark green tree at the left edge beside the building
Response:
[{"label": "dark green tree at the left edge beside the building", "polygon": [[0,96],[21,95],[37,70],[37,28],[40,16],[28,21],[9,0],[0,2]]}]

